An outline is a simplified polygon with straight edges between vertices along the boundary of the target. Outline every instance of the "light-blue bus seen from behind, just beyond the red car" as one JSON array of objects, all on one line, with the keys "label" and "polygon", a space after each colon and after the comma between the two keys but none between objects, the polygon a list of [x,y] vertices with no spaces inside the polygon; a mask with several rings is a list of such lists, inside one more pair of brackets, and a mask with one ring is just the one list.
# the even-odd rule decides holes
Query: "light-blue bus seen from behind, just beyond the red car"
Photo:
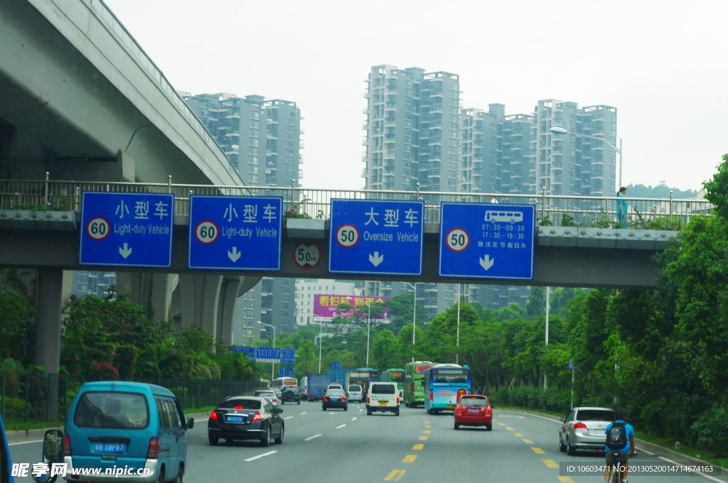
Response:
[{"label": "light-blue bus seen from behind, just beyond the red car", "polygon": [[457,393],[463,389],[472,392],[470,368],[457,364],[436,364],[424,375],[424,409],[430,414],[454,411]]}]

